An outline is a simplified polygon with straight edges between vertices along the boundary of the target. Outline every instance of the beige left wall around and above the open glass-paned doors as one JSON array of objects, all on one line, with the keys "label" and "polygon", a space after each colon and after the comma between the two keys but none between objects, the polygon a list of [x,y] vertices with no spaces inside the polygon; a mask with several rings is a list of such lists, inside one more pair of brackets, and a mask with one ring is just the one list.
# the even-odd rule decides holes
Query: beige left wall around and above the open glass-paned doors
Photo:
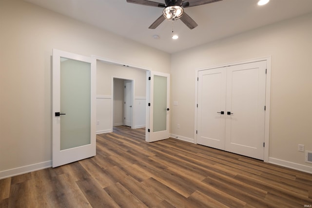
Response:
[{"label": "beige left wall around and above the open glass-paned doors", "polygon": [[162,51],[30,3],[0,0],[0,177],[52,159],[53,48],[170,71]]}]

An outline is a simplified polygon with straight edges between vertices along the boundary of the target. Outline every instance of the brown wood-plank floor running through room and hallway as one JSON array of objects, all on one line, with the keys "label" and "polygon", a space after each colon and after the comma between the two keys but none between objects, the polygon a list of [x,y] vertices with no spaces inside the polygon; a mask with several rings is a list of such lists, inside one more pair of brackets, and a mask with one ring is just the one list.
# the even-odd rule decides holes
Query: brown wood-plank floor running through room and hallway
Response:
[{"label": "brown wood-plank floor running through room and hallway", "polygon": [[97,156],[0,180],[0,208],[304,208],[312,174],[116,127]]}]

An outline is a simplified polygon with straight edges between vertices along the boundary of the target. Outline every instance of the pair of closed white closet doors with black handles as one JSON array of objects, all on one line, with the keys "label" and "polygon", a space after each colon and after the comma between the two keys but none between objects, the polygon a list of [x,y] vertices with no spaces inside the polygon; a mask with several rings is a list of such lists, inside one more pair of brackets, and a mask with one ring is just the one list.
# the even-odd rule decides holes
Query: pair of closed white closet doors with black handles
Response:
[{"label": "pair of closed white closet doors with black handles", "polygon": [[264,158],[266,61],[198,72],[197,144]]}]

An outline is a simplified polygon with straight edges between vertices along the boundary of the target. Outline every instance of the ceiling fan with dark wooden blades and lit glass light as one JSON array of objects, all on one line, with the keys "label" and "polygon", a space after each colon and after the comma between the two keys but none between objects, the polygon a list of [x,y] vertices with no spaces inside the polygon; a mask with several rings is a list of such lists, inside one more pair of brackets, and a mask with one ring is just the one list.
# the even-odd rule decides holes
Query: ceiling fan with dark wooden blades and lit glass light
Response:
[{"label": "ceiling fan with dark wooden blades and lit glass light", "polygon": [[181,19],[181,21],[186,24],[191,30],[197,26],[197,23],[188,16],[183,8],[198,6],[207,3],[213,3],[220,0],[165,0],[165,3],[159,3],[150,0],[127,0],[129,3],[137,3],[146,6],[163,7],[163,14],[156,19],[149,29],[155,29],[163,22],[165,19],[176,20]]}]

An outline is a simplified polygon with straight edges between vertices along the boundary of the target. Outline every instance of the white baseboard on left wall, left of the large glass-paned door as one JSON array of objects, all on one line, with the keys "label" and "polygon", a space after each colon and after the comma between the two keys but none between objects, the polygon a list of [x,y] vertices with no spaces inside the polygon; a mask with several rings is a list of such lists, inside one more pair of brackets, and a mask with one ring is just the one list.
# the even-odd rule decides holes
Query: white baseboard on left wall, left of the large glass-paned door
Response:
[{"label": "white baseboard on left wall, left of the large glass-paned door", "polygon": [[8,178],[8,177],[16,176],[16,175],[21,175],[21,174],[33,172],[36,170],[42,170],[42,169],[46,169],[50,167],[52,167],[52,160],[29,165],[29,166],[23,166],[23,167],[19,167],[15,169],[3,170],[3,171],[0,171],[0,179]]}]

